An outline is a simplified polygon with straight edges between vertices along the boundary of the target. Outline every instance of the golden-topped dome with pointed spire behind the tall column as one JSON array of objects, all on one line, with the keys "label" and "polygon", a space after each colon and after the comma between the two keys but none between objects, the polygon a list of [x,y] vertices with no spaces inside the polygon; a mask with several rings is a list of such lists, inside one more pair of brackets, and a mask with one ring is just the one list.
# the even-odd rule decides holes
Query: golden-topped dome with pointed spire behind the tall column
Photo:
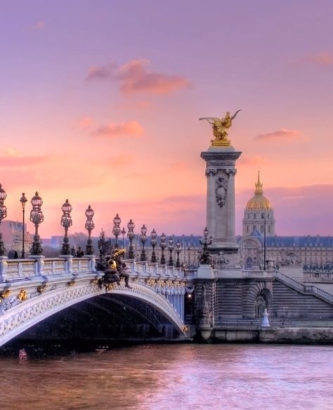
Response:
[{"label": "golden-topped dome with pointed spire behind the tall column", "polygon": [[273,236],[275,235],[273,206],[263,196],[263,184],[259,172],[255,186],[254,197],[247,202],[244,209],[243,236],[251,235],[256,231],[262,235],[266,233],[266,236]]}]

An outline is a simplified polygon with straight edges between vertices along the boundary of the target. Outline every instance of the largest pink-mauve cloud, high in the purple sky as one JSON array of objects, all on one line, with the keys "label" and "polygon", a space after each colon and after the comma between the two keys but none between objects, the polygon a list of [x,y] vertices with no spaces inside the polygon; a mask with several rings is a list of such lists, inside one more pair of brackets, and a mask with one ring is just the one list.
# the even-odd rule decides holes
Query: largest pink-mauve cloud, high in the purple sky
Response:
[{"label": "largest pink-mauve cloud, high in the purple sky", "polygon": [[125,94],[168,94],[189,86],[189,81],[178,75],[148,72],[149,60],[131,60],[115,69],[115,65],[91,67],[86,79],[115,79]]}]

